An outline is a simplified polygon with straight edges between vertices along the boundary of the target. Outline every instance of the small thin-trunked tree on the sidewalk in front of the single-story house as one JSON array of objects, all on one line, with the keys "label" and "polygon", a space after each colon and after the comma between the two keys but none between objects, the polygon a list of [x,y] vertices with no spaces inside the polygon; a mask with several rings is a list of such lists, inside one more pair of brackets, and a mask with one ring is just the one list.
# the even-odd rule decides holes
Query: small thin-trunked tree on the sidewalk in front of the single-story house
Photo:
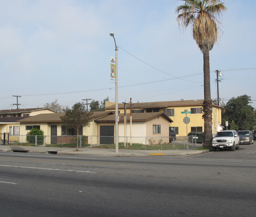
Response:
[{"label": "small thin-trunked tree on the sidewalk in front of the single-story house", "polygon": [[74,128],[77,131],[77,144],[78,150],[78,134],[80,127],[90,127],[91,117],[93,112],[86,112],[85,105],[82,102],[75,103],[72,108],[67,108],[65,115],[60,116],[63,125],[68,128]]}]

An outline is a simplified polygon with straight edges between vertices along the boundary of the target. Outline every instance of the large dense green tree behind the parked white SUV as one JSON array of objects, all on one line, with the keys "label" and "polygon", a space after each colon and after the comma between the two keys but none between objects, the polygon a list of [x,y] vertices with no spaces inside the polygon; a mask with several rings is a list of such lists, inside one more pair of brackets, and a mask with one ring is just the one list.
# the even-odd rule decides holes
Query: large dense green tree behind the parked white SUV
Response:
[{"label": "large dense green tree behind the parked white SUV", "polygon": [[256,117],[254,108],[249,105],[251,103],[250,97],[247,95],[232,97],[224,106],[222,123],[229,121],[229,129],[254,130]]}]

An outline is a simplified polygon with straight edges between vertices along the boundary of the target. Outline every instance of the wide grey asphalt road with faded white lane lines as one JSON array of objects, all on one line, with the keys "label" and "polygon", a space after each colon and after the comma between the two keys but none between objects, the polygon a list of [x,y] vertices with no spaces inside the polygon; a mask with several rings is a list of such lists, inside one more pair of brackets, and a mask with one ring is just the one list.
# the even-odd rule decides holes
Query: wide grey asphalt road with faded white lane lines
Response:
[{"label": "wide grey asphalt road with faded white lane lines", "polygon": [[255,216],[253,150],[180,159],[0,152],[0,216]]}]

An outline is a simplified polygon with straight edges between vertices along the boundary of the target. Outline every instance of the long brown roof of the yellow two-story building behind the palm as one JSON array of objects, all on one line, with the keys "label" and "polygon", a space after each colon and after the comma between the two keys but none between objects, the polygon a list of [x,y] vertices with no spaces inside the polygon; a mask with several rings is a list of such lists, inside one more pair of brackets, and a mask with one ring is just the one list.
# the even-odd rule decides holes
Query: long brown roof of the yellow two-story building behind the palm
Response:
[{"label": "long brown roof of the yellow two-story building behind the palm", "polygon": [[[132,108],[167,108],[170,106],[189,106],[189,105],[200,105],[203,104],[203,99],[197,100],[178,100],[178,101],[164,101],[164,102],[137,102],[132,103]],[[214,102],[213,102],[213,105]],[[217,106],[217,105],[215,105]],[[106,109],[114,109],[115,105],[110,105]],[[118,103],[118,108],[123,108],[123,103]]]}]

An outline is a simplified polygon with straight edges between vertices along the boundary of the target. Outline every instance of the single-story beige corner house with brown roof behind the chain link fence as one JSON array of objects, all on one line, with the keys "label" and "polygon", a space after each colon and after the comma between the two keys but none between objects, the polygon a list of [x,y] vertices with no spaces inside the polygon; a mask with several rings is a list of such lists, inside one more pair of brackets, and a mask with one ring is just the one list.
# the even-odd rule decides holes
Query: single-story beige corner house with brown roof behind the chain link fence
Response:
[{"label": "single-story beige corner house with brown roof behind the chain link fence", "polygon": [[[76,136],[74,129],[69,129],[62,124],[60,116],[65,113],[40,114],[20,120],[20,135],[25,136],[30,129],[37,127],[44,131],[47,144],[60,143],[65,136]],[[127,115],[126,136],[130,137],[130,115]],[[165,137],[164,143],[169,142],[169,123],[172,120],[164,112],[145,113],[132,115],[132,137],[144,137],[143,140],[137,139],[139,143],[145,144],[145,137]],[[119,137],[124,137],[124,115],[120,115],[118,124]],[[79,135],[92,136],[93,144],[98,142],[103,144],[103,137],[115,136],[115,114],[111,111],[94,112],[90,127],[79,129]],[[99,140],[100,138],[100,140]],[[103,141],[102,141],[103,139]],[[25,142],[25,139],[22,139]],[[124,140],[124,138],[123,138]],[[69,141],[66,141],[69,142]],[[135,142],[135,140],[133,141]],[[114,142],[113,142],[114,143]],[[112,144],[112,143],[111,143]]]}]

